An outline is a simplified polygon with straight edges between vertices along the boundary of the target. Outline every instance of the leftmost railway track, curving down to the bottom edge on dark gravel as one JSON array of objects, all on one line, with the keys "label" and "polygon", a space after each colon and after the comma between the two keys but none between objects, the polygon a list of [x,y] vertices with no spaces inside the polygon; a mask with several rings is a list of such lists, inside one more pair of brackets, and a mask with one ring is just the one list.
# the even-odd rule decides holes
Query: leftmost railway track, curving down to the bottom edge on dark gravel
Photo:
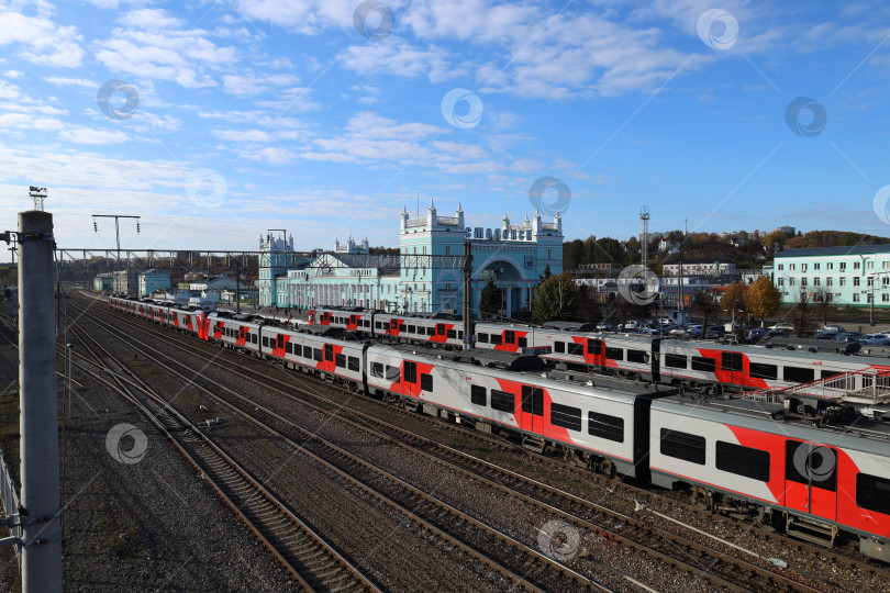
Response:
[{"label": "leftmost railway track, curving down to the bottom edge on dark gravel", "polygon": [[77,366],[136,406],[283,563],[300,589],[318,592],[379,592],[369,579],[256,478],[214,445],[147,383],[126,372],[125,366],[107,348],[86,332],[78,331],[77,336],[93,358],[92,362],[79,362]]}]

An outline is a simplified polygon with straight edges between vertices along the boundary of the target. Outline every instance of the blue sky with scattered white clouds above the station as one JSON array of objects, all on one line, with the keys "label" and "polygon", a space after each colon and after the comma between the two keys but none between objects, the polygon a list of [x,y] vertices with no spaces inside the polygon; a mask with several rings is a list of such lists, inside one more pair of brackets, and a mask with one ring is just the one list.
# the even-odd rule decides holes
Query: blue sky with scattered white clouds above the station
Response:
[{"label": "blue sky with scattered white clouds above the station", "polygon": [[48,188],[60,246],[394,246],[418,197],[496,226],[543,177],[567,238],[890,236],[886,3],[4,1],[0,215]]}]

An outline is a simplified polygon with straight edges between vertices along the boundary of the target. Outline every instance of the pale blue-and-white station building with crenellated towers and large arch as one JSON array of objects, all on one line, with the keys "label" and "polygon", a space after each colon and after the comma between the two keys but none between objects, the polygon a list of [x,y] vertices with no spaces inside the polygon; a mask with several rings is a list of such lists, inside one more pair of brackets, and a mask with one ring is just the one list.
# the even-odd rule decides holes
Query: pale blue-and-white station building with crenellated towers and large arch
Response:
[{"label": "pale blue-and-white station building with crenellated towers and large arch", "polygon": [[[467,226],[458,205],[453,216],[440,216],[434,202],[426,215],[399,220],[399,255],[369,253],[367,238],[337,240],[333,251],[304,258],[293,251],[293,238],[260,238],[257,279],[262,306],[311,309],[357,306],[387,312],[460,313],[464,244],[472,255],[472,302],[478,307],[489,280],[501,289],[503,314],[530,309],[534,286],[549,267],[563,271],[563,222],[556,213],[544,222],[538,212],[500,227]],[[438,256],[432,258],[430,256]]]}]

